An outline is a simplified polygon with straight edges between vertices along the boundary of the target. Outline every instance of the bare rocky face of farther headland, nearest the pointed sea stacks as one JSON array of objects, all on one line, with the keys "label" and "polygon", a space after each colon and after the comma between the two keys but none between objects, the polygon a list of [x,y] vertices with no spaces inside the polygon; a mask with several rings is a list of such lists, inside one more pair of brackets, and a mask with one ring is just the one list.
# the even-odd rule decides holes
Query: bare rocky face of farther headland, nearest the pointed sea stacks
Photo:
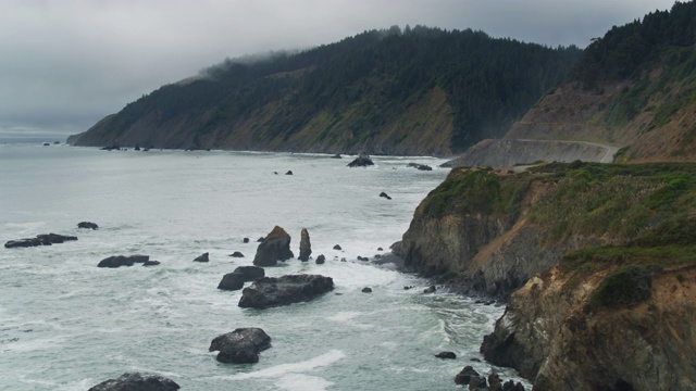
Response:
[{"label": "bare rocky face of farther headland, nearest the pointed sea stacks", "polygon": [[[610,236],[594,235],[545,240],[548,227],[527,218],[531,207],[554,184],[545,178],[527,173],[453,169],[419,205],[403,234],[400,255],[406,267],[451,282],[464,292],[506,299],[535,274],[554,266],[562,254],[611,240]],[[486,187],[486,181],[495,186]],[[465,189],[473,192],[458,199]],[[438,211],[443,203],[448,206]]]}]

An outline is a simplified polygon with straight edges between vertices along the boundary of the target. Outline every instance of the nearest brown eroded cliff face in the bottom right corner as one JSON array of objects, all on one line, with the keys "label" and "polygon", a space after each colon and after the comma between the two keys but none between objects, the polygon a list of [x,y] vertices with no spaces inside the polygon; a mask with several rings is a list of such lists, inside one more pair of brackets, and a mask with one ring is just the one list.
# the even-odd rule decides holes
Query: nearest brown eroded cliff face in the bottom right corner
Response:
[{"label": "nearest brown eroded cliff face in the bottom right corner", "polygon": [[486,358],[517,368],[536,391],[696,389],[696,267],[664,267],[639,303],[593,305],[614,272],[556,267],[532,278],[486,337]]}]

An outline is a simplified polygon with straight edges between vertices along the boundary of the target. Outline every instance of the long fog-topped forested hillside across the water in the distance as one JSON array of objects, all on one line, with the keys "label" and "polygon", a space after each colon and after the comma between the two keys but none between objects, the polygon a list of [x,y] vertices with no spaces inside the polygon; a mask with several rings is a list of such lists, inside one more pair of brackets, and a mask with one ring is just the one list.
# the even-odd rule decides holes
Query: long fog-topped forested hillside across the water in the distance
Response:
[{"label": "long fog-topped forested hillside across the water in the distance", "polygon": [[501,137],[581,53],[394,26],[300,53],[227,60],[73,142],[448,155]]}]

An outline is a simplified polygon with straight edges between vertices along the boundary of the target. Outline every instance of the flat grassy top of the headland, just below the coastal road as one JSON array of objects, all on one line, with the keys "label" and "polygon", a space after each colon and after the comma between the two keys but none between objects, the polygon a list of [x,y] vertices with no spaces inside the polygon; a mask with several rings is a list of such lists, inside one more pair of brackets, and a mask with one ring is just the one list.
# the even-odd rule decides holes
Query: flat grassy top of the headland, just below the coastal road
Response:
[{"label": "flat grassy top of the headland, just below the coastal road", "polygon": [[[546,242],[608,235],[630,241],[662,222],[685,222],[696,211],[696,165],[551,163],[549,191],[530,211],[548,227]],[[679,230],[679,228],[675,228]],[[668,241],[669,242],[669,241]]]}]

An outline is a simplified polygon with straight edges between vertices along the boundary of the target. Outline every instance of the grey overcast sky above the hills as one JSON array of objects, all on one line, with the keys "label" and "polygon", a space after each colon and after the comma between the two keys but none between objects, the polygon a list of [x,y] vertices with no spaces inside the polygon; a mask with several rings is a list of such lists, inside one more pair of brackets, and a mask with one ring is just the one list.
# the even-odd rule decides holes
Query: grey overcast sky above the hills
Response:
[{"label": "grey overcast sky above the hills", "polygon": [[0,133],[80,133],[225,58],[407,24],[585,47],[672,0],[0,0]]}]

